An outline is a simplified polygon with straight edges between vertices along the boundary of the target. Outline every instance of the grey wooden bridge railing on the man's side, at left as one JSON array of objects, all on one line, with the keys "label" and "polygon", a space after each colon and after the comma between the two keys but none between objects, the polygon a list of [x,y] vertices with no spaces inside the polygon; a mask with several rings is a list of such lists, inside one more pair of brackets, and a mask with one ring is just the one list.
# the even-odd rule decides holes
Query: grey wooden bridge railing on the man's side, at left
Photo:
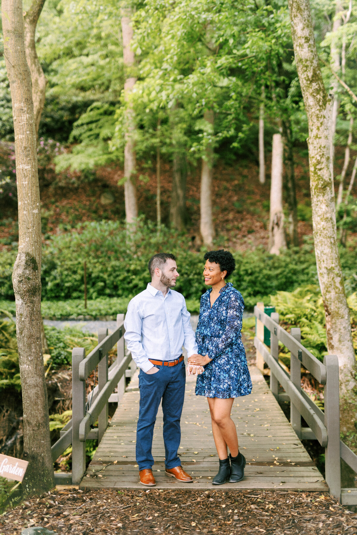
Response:
[{"label": "grey wooden bridge railing on the man's side, at left", "polygon": [[[117,328],[98,331],[98,345],[86,357],[81,347],[72,350],[72,419],[60,431],[60,438],[52,446],[56,459],[72,444],[72,474],[55,473],[55,482],[78,485],[86,470],[86,441],[101,441],[108,426],[108,403],[119,402],[125,392],[125,377],[136,365],[131,353],[125,353],[124,314],[117,315]],[[108,368],[108,353],[117,344],[117,360]],[[86,394],[86,382],[98,368],[98,384]],[[117,388],[117,392],[113,393]],[[94,427],[98,420],[98,427]]]}]

